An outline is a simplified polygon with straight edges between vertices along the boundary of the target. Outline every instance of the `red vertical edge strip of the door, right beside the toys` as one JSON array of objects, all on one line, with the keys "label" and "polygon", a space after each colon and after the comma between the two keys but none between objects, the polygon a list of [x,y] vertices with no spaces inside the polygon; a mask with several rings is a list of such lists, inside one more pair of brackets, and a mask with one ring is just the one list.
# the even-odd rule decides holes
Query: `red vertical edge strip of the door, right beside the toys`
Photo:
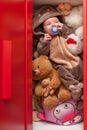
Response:
[{"label": "red vertical edge strip of the door, right beside the toys", "polygon": [[25,0],[25,130],[32,130],[32,0]]}]

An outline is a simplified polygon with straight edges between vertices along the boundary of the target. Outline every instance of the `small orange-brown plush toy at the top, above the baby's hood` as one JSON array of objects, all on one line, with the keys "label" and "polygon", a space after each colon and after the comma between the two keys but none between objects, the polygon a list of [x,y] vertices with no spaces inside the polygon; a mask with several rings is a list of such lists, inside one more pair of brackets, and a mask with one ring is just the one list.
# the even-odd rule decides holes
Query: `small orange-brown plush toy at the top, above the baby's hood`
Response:
[{"label": "small orange-brown plush toy at the top, above the baby's hood", "polygon": [[59,3],[57,8],[56,8],[59,12],[61,12],[63,15],[68,15],[70,14],[71,10],[72,10],[72,5],[68,2],[65,3]]}]

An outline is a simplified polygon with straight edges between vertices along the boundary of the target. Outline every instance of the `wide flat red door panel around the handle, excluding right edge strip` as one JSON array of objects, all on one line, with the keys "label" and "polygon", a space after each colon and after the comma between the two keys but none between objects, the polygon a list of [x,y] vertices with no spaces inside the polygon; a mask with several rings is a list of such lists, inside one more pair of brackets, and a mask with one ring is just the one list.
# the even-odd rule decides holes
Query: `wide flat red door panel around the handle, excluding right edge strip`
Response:
[{"label": "wide flat red door panel around the handle, excluding right edge strip", "polygon": [[0,3],[0,39],[12,41],[12,98],[0,99],[0,130],[24,130],[25,4],[24,2],[5,3],[4,0],[3,2]]}]

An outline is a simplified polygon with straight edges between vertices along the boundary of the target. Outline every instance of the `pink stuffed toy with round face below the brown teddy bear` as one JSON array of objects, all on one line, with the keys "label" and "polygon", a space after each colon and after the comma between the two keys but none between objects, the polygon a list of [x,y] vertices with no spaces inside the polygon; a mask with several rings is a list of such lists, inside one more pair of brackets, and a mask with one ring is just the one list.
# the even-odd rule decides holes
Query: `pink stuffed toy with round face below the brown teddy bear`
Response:
[{"label": "pink stuffed toy with round face below the brown teddy bear", "polygon": [[77,109],[76,106],[77,103],[74,100],[60,102],[51,110],[43,104],[44,113],[38,112],[37,117],[57,125],[74,125],[83,120],[83,110]]}]

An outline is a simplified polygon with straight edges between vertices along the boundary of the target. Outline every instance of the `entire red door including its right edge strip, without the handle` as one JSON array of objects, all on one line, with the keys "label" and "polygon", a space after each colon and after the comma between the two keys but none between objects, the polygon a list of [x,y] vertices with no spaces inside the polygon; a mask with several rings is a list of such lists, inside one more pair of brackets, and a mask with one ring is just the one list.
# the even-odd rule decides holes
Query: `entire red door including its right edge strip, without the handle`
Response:
[{"label": "entire red door including its right edge strip, without the handle", "polygon": [[0,3],[0,39],[12,41],[12,98],[0,99],[1,130],[32,129],[32,1],[27,9],[25,2]]}]

